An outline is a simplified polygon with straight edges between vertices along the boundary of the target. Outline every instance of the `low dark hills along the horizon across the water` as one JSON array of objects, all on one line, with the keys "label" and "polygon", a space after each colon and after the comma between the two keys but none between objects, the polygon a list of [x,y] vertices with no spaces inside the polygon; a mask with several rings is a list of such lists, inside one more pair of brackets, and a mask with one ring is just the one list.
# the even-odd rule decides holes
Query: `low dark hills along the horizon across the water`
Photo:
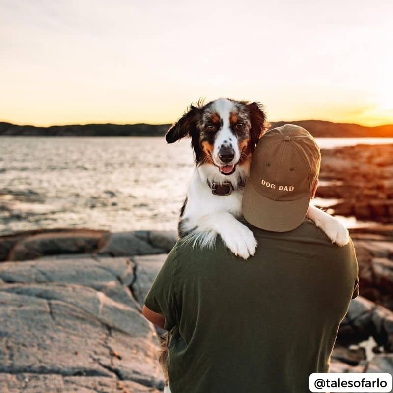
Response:
[{"label": "low dark hills along the horizon across the water", "polygon": [[[393,124],[365,127],[359,124],[332,123],[323,120],[277,121],[271,127],[286,123],[297,124],[314,137],[393,137]],[[46,137],[128,137],[163,136],[170,124],[85,124],[51,127],[20,126],[0,122],[0,135]]]}]

